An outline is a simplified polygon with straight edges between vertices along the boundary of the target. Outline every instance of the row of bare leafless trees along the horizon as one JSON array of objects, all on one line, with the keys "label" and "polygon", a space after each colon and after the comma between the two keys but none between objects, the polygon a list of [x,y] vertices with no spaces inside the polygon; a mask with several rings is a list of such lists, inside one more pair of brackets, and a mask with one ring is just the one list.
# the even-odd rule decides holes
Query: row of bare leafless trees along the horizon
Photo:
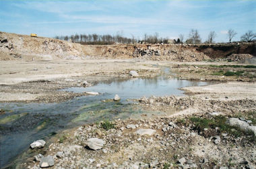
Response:
[{"label": "row of bare leafless trees along the horizon", "polygon": [[[228,30],[227,38],[228,42],[232,42],[232,39],[236,36],[236,32],[232,29]],[[211,31],[207,40],[203,43],[212,44],[216,38],[217,34]],[[177,40],[169,40],[168,38],[161,38],[156,32],[153,35],[144,34],[142,40],[140,38],[135,38],[131,35],[131,38],[127,38],[122,34],[116,35],[98,35],[98,34],[75,34],[71,36],[55,36],[56,39],[66,40],[74,43],[80,44],[98,44],[98,45],[108,45],[108,44],[135,44],[135,43],[147,43],[147,44],[201,44],[201,36],[198,30],[191,29],[187,40],[185,40],[185,35],[180,34]],[[249,30],[243,36],[241,36],[241,42],[253,42],[256,39],[256,34]]]}]

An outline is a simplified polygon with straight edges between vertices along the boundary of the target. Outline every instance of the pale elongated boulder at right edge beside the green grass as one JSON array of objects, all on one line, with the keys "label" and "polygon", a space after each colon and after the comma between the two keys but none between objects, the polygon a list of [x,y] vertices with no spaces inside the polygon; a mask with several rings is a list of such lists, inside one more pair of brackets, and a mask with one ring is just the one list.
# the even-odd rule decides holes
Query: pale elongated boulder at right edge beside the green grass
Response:
[{"label": "pale elongated boulder at right edge beside the green grass", "polygon": [[256,126],[251,126],[247,122],[238,118],[230,118],[226,123],[234,127],[239,127],[245,131],[253,131],[253,133],[256,135]]}]

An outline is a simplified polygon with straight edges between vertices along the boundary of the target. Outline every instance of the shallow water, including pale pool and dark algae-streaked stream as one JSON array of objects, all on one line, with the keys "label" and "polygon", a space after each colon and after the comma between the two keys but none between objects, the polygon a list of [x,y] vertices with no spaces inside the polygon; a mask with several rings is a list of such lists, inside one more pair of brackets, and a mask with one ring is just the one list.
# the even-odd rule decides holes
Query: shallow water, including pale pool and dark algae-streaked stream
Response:
[{"label": "shallow water, including pale pool and dark algae-streaked stream", "polygon": [[[125,119],[139,117],[143,111],[127,99],[138,99],[151,95],[183,95],[181,87],[201,86],[207,82],[195,82],[168,78],[168,69],[155,78],[112,79],[98,82],[93,87],[63,89],[69,92],[95,91],[96,96],[84,96],[63,103],[1,103],[7,110],[0,115],[1,165],[7,165],[19,154],[28,150],[36,139],[48,139],[58,131],[93,123],[103,119]],[[113,102],[115,94],[121,101]],[[31,156],[30,156],[31,157]]]}]

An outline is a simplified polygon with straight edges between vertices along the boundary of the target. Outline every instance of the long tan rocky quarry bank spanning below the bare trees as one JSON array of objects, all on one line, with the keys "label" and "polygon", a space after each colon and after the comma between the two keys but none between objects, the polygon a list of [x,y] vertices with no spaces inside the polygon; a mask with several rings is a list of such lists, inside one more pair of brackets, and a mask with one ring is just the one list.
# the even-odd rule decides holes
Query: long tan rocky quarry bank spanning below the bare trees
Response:
[{"label": "long tan rocky quarry bank spanning below the bare trees", "polygon": [[[1,60],[131,59],[201,61],[231,54],[255,56],[255,43],[81,45],[53,38],[0,32]],[[239,58],[239,57],[238,57]]]}]

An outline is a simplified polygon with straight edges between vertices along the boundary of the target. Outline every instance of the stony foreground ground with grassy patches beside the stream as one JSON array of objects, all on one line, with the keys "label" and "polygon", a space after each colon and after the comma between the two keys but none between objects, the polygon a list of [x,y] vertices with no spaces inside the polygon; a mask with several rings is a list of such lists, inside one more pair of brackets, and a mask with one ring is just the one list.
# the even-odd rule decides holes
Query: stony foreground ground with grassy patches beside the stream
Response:
[{"label": "stony foreground ground with grassy patches beside the stream", "polygon": [[[255,168],[255,100],[205,103],[191,97],[152,97],[139,101],[166,109],[202,106],[194,115],[83,125],[60,133],[49,147],[35,151],[51,156],[52,168]],[[228,123],[231,117],[249,127]],[[24,166],[40,164],[32,157]]]}]

